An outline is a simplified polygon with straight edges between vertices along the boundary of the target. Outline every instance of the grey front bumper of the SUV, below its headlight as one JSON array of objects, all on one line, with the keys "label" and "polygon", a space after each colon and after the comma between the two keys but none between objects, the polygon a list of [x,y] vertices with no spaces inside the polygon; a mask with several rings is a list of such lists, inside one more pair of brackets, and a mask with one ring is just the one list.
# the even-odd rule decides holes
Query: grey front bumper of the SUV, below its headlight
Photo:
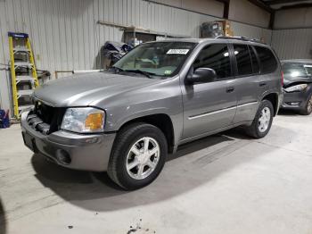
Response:
[{"label": "grey front bumper of the SUV, below its headlight", "polygon": [[86,171],[107,171],[116,134],[77,134],[58,130],[45,135],[33,129],[21,114],[24,143],[34,153],[44,155],[64,167]]}]

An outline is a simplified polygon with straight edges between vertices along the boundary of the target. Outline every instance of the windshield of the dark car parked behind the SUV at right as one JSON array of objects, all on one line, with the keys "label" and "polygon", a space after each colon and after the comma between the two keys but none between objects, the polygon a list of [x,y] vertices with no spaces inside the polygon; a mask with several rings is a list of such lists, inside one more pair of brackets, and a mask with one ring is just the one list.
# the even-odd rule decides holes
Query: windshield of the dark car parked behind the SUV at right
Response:
[{"label": "windshield of the dark car parked behind the SUV at right", "polygon": [[304,63],[284,63],[283,64],[283,77],[284,79],[300,79],[311,78],[310,72],[308,72],[308,65]]}]

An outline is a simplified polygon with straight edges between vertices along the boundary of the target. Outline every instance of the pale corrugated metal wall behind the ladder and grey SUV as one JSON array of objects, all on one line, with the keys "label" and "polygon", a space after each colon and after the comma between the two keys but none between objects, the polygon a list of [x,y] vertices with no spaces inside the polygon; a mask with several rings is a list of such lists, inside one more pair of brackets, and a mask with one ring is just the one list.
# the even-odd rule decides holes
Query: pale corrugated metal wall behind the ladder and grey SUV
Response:
[{"label": "pale corrugated metal wall behind the ladder and grey SUV", "polygon": [[[96,24],[111,21],[145,29],[199,36],[203,21],[218,18],[142,0],[4,0],[0,1],[0,63],[9,63],[8,31],[29,33],[37,69],[93,69],[106,40],[122,31]],[[235,36],[271,38],[270,30],[233,22]],[[9,73],[0,71],[0,104],[11,106]]]}]

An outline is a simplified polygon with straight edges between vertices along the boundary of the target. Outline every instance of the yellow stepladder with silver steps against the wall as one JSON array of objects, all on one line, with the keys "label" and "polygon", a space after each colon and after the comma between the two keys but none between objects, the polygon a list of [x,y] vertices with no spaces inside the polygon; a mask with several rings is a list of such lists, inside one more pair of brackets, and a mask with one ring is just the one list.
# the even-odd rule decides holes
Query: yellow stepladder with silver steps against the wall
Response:
[{"label": "yellow stepladder with silver steps against the wall", "polygon": [[13,113],[15,118],[19,120],[21,112],[33,106],[31,94],[39,84],[29,35],[26,33],[8,32],[8,36],[11,58]]}]

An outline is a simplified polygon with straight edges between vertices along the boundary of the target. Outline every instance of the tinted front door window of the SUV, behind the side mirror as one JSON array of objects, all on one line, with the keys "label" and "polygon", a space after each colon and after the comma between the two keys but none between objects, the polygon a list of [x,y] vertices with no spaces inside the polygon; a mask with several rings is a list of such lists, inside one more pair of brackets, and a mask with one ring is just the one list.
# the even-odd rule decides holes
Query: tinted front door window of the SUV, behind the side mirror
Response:
[{"label": "tinted front door window of the SUV, behind the side mirror", "polygon": [[213,44],[204,47],[193,63],[193,68],[205,67],[216,71],[217,79],[231,76],[231,62],[226,44]]}]

